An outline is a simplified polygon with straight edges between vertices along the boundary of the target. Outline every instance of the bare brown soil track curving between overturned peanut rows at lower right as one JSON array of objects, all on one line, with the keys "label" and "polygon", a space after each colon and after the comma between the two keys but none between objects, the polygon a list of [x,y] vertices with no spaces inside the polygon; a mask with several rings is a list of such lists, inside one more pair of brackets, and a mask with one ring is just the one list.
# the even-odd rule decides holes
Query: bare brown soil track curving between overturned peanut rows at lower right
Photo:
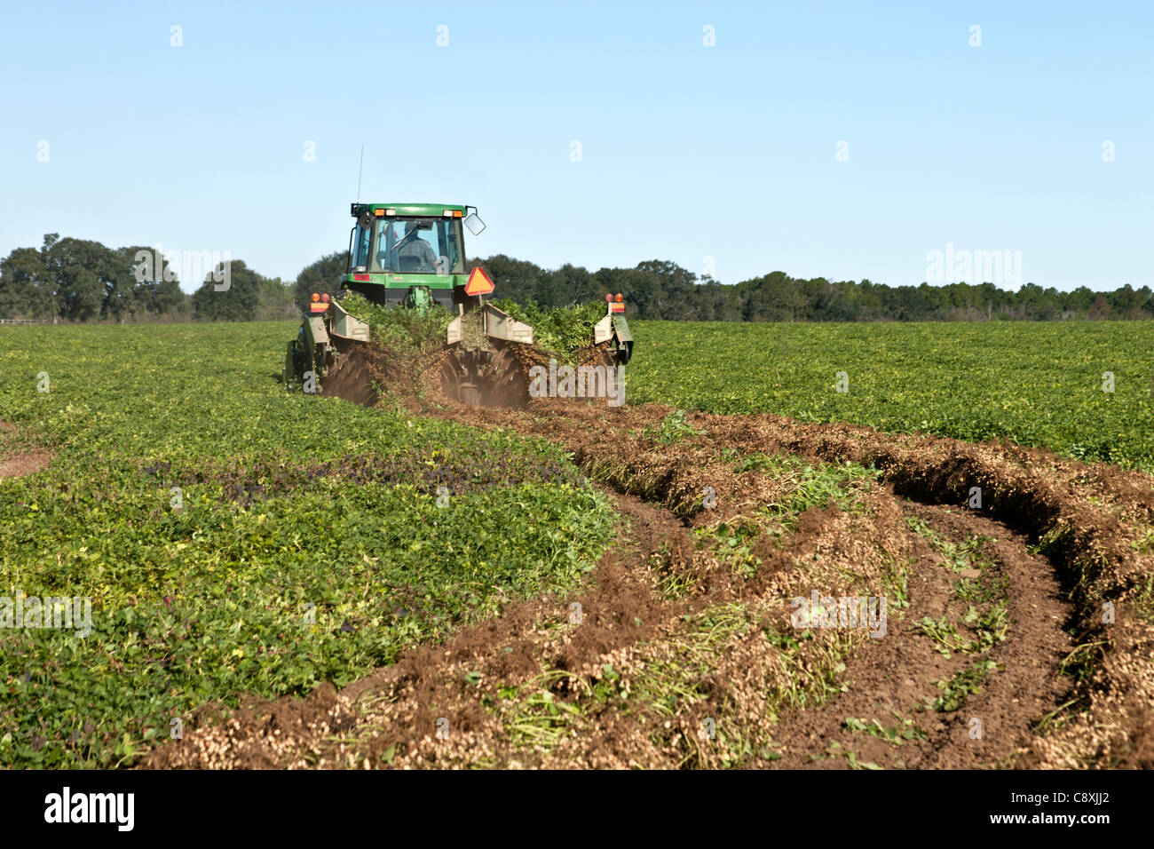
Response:
[{"label": "bare brown soil track curving between overturned peanut rows at lower right", "polygon": [[[935,682],[966,669],[975,656],[954,653],[947,660],[929,638],[914,633],[922,617],[938,619],[947,613],[953,587],[964,578],[926,539],[919,538],[919,567],[909,576],[909,608],[904,617],[898,619],[891,606],[886,635],[870,640],[848,662],[848,692],[789,717],[788,735],[781,738],[784,757],[775,767],[847,768],[849,752],[854,752],[857,764],[883,768],[995,767],[1027,743],[1040,717],[1067,698],[1069,680],[1058,675],[1057,668],[1073,649],[1063,630],[1069,624],[1070,605],[1062,598],[1049,561],[1031,554],[1028,541],[1020,534],[967,508],[919,504],[905,507],[909,515],[922,519],[952,542],[991,539],[982,550],[994,575],[1009,582],[1011,624],[1006,639],[981,658],[988,657],[998,668],[958,709],[926,709],[927,701],[942,695]],[[847,717],[863,721],[867,727],[876,720],[892,729],[897,739],[853,731],[846,727]],[[980,737],[971,736],[973,718],[981,721]],[[906,729],[907,720],[927,737],[902,739],[900,731]],[[833,744],[837,749],[831,749]]]}]

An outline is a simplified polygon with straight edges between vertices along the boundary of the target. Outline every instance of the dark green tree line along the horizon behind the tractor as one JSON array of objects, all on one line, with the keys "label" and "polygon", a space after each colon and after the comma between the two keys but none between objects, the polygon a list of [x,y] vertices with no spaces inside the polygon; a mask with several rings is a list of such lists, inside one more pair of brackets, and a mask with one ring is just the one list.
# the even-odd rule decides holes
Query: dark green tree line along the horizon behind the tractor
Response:
[{"label": "dark green tree line along the horizon behind the tractor", "polygon": [[[0,318],[57,321],[253,321],[295,318],[313,292],[336,292],[345,251],[325,254],[295,281],[265,277],[231,260],[208,269],[186,295],[179,271],[160,258],[141,274],[148,247],[108,248],[98,241],[44,237],[39,248],[20,247],[0,260]],[[155,255],[155,254],[153,254]],[[1018,291],[992,283],[890,286],[868,280],[803,280],[784,271],[735,284],[698,276],[668,260],[635,268],[546,269],[504,254],[473,260],[496,284],[495,295],[542,307],[601,300],[621,292],[628,314],[674,321],[1055,321],[1151,319],[1149,286],[1112,292],[1079,286],[1069,292],[1026,283]]]}]

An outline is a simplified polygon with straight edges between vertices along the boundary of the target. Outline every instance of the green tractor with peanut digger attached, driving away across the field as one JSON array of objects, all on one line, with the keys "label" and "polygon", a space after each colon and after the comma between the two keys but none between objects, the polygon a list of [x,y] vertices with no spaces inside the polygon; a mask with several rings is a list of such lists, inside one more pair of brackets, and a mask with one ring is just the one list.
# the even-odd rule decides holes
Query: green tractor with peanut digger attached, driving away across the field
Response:
[{"label": "green tractor with peanut digger attached, driving away across the field", "polygon": [[[464,229],[477,236],[485,223],[474,207],[440,203],[353,203],[349,262],[339,291],[314,293],[297,338],[284,358],[285,388],[320,393],[327,374],[357,345],[369,326],[340,306],[345,293],[400,310],[444,308],[456,314],[445,334],[442,385],[466,404],[508,407],[527,394],[526,349],[533,328],[485,300],[493,282],[484,269],[469,271]],[[591,345],[606,365],[624,365],[632,336],[621,296],[606,296],[608,312]],[[479,333],[477,332],[479,329]]]}]

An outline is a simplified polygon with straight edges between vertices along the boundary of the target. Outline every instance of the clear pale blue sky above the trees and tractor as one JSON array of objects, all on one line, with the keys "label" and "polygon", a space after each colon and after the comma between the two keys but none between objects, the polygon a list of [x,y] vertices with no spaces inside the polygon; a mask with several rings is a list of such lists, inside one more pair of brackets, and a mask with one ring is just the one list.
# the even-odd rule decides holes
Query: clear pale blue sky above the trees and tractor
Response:
[{"label": "clear pale blue sky above the trees and tractor", "polygon": [[479,207],[474,256],[899,285],[952,244],[1154,284],[1152,9],[6,2],[0,255],[59,232],[294,278],[347,244],[364,143],[361,199]]}]

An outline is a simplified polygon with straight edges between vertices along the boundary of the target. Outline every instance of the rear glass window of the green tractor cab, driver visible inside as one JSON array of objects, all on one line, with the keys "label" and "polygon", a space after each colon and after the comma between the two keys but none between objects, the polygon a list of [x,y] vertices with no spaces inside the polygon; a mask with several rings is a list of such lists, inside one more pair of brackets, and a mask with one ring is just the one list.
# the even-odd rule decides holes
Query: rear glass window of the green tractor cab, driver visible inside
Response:
[{"label": "rear glass window of the green tractor cab, driver visible inside", "polygon": [[465,251],[460,237],[460,218],[377,218],[373,236],[372,270],[395,274],[464,274]]}]

